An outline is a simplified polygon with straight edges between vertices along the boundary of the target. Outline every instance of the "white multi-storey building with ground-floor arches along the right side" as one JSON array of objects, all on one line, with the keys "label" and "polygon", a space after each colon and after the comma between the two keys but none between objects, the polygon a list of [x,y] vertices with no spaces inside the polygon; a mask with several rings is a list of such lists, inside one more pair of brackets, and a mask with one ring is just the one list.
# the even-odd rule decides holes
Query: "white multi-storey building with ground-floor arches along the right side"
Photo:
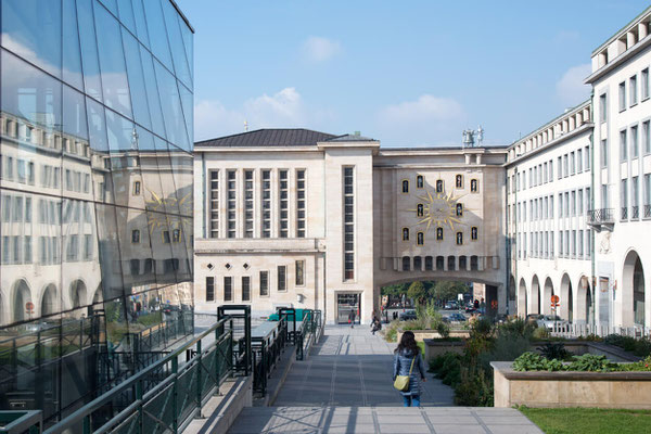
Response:
[{"label": "white multi-storey building with ground-floor arches along the right side", "polygon": [[598,47],[590,100],[509,148],[510,298],[520,314],[651,327],[651,8]]}]

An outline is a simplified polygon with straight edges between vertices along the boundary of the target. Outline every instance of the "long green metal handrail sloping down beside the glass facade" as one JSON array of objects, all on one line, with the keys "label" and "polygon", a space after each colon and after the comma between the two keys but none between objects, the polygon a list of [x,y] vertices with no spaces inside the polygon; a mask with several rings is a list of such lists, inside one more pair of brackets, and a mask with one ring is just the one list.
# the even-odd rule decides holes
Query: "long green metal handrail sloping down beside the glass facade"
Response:
[{"label": "long green metal handrail sloping down beside the glass facade", "polygon": [[[66,417],[63,420],[61,420],[54,426],[46,430],[43,432],[43,434],[58,434],[58,433],[62,433],[69,425],[74,425],[75,423],[81,422],[88,414],[92,413],[94,410],[100,409],[100,407],[102,405],[111,401],[114,397],[116,397],[120,393],[125,392],[126,390],[133,387],[133,385],[136,385],[140,380],[146,378],[146,375],[150,374],[151,372],[153,372],[156,369],[158,369],[158,368],[167,365],[168,362],[173,362],[173,360],[177,360],[177,358],[181,354],[183,354],[187,349],[189,349],[191,346],[193,346],[194,344],[196,344],[197,342],[200,342],[201,340],[203,340],[204,337],[206,337],[208,334],[214,333],[220,327],[224,327],[224,324],[228,320],[229,320],[228,317],[220,319],[219,321],[217,321],[216,323],[214,323],[208,330],[206,330],[203,333],[199,334],[192,341],[190,341],[190,342],[186,343],[184,345],[180,346],[179,348],[173,350],[165,358],[163,358],[163,359],[158,360],[157,362],[149,366],[148,368],[143,369],[142,371],[140,371],[138,373],[136,373],[135,375],[131,375],[128,380],[126,380],[123,383],[119,383],[114,388],[112,388],[110,392],[107,392],[107,393],[99,396],[98,398],[93,399],[92,401],[88,403],[87,405],[85,405],[84,407],[81,407],[80,409],[78,409],[77,411],[73,412],[68,417]],[[224,340],[224,337],[227,336],[229,333],[231,333],[230,330],[229,331],[225,331],[220,336],[218,336],[215,340],[215,344],[217,344],[218,342],[221,342]],[[183,368],[186,368],[187,365],[188,365],[188,362],[183,363]]]}]

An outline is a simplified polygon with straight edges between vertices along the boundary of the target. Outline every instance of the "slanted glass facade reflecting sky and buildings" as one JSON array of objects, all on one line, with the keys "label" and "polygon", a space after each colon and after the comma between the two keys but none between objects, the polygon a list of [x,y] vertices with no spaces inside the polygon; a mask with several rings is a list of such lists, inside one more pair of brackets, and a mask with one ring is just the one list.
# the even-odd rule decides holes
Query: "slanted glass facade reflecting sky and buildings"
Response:
[{"label": "slanted glass facade reflecting sky and buildings", "polygon": [[0,409],[54,420],[192,333],[193,30],[171,0],[0,5]]}]

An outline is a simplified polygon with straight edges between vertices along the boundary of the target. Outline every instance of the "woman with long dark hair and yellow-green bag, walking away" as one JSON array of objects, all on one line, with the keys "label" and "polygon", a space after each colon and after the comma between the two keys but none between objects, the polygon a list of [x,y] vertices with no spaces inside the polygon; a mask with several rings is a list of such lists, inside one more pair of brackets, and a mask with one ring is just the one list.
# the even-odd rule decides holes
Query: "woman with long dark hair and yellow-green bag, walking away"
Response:
[{"label": "woman with long dark hair and yellow-green bag, walking away", "polygon": [[416,344],[413,332],[403,333],[400,343],[395,350],[394,356],[394,382],[398,375],[409,376],[409,386],[400,391],[405,407],[420,407],[420,382],[427,381],[425,378],[425,366],[420,354],[420,348]]}]

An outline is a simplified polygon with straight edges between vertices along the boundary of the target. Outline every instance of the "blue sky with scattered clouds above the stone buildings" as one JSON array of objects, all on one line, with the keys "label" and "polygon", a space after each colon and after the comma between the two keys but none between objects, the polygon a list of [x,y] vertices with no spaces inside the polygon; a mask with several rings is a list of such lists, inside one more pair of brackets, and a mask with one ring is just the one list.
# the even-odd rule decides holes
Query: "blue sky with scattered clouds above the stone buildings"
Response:
[{"label": "blue sky with scattered clouds above the stone buildings", "polygon": [[510,144],[589,98],[591,52],[641,0],[176,0],[195,29],[195,140],[360,131]]}]

